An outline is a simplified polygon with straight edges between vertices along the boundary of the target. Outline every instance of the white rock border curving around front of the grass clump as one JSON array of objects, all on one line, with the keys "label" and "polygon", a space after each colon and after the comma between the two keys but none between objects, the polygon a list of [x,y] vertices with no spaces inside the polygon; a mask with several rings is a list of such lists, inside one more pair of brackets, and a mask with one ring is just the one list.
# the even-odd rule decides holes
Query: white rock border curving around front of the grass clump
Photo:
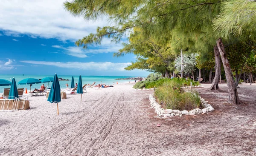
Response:
[{"label": "white rock border curving around front of the grass clump", "polygon": [[201,100],[202,105],[204,106],[203,109],[196,108],[191,111],[179,111],[179,110],[172,110],[172,109],[163,109],[159,103],[157,103],[156,99],[152,94],[149,95],[150,105],[152,108],[155,109],[158,116],[163,116],[164,118],[168,116],[182,116],[182,115],[195,115],[195,114],[201,114],[201,113],[209,113],[213,112],[214,108],[210,104],[208,104],[208,101],[205,101],[201,96],[198,96]]}]

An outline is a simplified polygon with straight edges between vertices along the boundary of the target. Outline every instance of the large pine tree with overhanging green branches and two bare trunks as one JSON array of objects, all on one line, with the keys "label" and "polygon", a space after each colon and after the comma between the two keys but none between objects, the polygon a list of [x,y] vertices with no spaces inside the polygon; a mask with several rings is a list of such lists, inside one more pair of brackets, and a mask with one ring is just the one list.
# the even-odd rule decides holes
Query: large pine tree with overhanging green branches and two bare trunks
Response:
[{"label": "large pine tree with overhanging green branches and two bare trunks", "polygon": [[[171,42],[176,51],[192,46],[196,51],[205,52],[209,47],[217,47],[226,73],[229,100],[240,103],[232,71],[225,54],[224,43],[218,33],[212,31],[212,20],[218,16],[222,1],[220,0],[73,0],[64,3],[71,14],[82,16],[86,20],[96,20],[108,16],[116,26],[97,28],[95,34],[76,42],[79,46],[100,44],[104,37],[119,42],[123,35],[133,28],[140,28],[144,39],[148,37],[156,44]],[[217,39],[217,40],[216,40]],[[217,46],[216,46],[217,44]],[[216,48],[215,48],[216,49]],[[216,57],[217,56],[217,57]],[[219,55],[215,54],[215,59]],[[217,67],[220,61],[215,60]],[[216,68],[212,88],[218,88],[219,68]]]}]

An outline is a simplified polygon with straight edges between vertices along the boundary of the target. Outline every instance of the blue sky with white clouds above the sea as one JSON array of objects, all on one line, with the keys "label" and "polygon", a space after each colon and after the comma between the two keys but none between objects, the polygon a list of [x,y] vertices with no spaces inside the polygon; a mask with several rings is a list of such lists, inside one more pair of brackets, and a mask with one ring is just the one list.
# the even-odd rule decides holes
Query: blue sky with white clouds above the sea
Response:
[{"label": "blue sky with white clouds above the sea", "polygon": [[[84,21],[63,9],[65,0],[3,0],[0,9],[1,74],[147,76],[125,71],[135,55],[113,57],[122,43],[105,39],[83,49],[75,41],[110,26],[106,19]],[[14,5],[15,4],[15,5]],[[122,42],[127,42],[123,39]]]}]

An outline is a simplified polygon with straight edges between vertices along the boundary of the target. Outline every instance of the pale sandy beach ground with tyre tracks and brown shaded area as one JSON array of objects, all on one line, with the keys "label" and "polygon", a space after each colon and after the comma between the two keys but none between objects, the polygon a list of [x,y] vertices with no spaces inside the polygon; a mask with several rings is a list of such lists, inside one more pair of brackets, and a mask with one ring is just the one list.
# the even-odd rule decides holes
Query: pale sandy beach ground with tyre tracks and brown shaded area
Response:
[{"label": "pale sandy beach ground with tyre tracks and brown shaded area", "polygon": [[[221,85],[221,93],[197,88],[216,111],[166,119],[155,117],[150,108],[148,96],[153,91],[136,91],[132,85],[134,82],[89,88],[83,102],[81,95],[67,95],[59,103],[59,115],[56,104],[44,96],[29,97],[30,110],[0,112],[0,155],[256,154],[255,85],[238,88],[241,100],[250,97],[247,104],[239,106],[225,104],[226,85]],[[243,94],[248,88],[250,93]]]}]

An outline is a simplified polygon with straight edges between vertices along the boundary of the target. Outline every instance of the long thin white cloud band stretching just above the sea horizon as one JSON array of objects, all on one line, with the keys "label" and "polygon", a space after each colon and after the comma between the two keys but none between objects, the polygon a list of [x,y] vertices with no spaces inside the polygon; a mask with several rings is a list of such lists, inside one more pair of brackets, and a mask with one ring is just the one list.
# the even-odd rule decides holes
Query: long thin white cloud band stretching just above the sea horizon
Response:
[{"label": "long thin white cloud band stretching just above the sea horizon", "polygon": [[124,71],[125,67],[131,65],[127,63],[113,63],[113,62],[47,62],[47,61],[20,61],[23,63],[30,63],[35,65],[52,65],[61,68],[72,68],[80,70],[97,70],[97,71]]}]

